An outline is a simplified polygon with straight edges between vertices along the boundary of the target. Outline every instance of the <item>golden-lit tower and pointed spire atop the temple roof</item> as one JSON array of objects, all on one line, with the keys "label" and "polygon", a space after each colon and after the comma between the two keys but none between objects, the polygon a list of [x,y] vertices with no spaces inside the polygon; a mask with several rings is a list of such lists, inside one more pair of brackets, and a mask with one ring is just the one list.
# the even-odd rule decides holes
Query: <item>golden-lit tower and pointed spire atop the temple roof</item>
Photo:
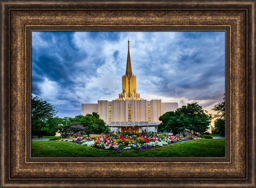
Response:
[{"label": "golden-lit tower and pointed spire atop the temple roof", "polygon": [[116,100],[142,100],[140,94],[136,92],[136,76],[132,75],[129,43],[130,41],[128,39],[126,72],[122,76],[122,93],[119,94],[119,98]]}]

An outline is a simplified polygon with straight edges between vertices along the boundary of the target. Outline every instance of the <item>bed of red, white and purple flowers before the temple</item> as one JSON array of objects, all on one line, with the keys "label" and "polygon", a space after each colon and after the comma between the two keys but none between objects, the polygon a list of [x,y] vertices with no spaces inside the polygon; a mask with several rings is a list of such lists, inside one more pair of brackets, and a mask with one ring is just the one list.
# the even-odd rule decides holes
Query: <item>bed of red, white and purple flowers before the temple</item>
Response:
[{"label": "bed of red, white and purple flowers before the temple", "polygon": [[196,136],[163,136],[160,134],[111,134],[111,135],[92,135],[81,136],[77,138],[62,139],[71,143],[86,145],[89,147],[106,149],[106,150],[144,150],[159,146],[169,145],[179,141],[187,141],[190,139],[200,139]]}]

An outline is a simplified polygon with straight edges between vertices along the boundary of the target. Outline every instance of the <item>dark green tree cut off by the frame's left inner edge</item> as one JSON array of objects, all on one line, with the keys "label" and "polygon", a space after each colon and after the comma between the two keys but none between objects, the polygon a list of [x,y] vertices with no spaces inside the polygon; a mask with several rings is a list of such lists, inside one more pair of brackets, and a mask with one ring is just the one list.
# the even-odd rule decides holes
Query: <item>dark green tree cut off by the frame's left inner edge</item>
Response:
[{"label": "dark green tree cut off by the frame's left inner edge", "polygon": [[32,96],[31,108],[32,133],[41,137],[42,133],[47,130],[46,121],[56,115],[57,111],[53,105],[38,96]]}]

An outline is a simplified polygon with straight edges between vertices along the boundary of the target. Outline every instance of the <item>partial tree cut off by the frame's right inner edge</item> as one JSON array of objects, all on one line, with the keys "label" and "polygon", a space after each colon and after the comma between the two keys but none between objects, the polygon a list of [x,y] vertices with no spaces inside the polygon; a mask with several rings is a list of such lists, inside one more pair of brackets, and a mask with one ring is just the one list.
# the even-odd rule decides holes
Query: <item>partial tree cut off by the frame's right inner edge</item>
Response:
[{"label": "partial tree cut off by the frame's right inner edge", "polygon": [[214,115],[214,129],[215,133],[219,133],[221,136],[225,136],[225,94],[223,101],[214,106],[212,109],[217,111],[217,114]]}]

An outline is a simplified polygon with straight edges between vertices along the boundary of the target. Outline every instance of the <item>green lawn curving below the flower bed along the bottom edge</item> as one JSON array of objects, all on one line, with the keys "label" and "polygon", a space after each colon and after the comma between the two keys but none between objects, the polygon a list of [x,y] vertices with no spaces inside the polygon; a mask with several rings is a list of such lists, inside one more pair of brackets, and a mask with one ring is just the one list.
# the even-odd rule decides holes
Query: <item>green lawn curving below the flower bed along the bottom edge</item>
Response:
[{"label": "green lawn curving below the flower bed along the bottom edge", "polygon": [[156,149],[113,151],[65,141],[32,141],[32,157],[224,157],[225,139],[199,139]]}]

